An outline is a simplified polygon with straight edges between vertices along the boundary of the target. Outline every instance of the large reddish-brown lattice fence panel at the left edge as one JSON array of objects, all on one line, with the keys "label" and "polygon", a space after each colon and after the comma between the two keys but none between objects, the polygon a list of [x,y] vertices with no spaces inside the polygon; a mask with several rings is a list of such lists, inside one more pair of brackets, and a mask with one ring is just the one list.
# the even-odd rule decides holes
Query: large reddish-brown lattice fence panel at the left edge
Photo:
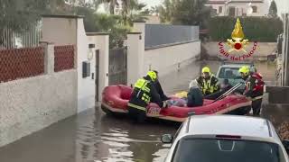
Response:
[{"label": "large reddish-brown lattice fence panel at the left edge", "polygon": [[44,73],[44,48],[0,49],[0,82]]}]

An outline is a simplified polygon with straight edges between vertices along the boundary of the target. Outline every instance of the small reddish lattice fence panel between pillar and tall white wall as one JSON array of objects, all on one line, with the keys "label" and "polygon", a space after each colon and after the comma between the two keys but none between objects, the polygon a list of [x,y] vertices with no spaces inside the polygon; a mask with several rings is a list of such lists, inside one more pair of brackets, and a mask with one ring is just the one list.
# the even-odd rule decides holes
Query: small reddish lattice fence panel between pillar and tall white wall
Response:
[{"label": "small reddish lattice fence panel between pillar and tall white wall", "polygon": [[74,68],[74,46],[54,47],[54,71],[59,72]]}]

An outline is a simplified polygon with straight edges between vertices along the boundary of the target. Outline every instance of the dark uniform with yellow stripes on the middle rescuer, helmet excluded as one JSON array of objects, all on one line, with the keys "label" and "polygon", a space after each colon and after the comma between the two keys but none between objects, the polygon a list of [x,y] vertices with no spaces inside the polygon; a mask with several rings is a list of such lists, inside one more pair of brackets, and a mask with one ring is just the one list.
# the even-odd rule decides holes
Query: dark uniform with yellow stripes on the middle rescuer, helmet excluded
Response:
[{"label": "dark uniform with yellow stripes on the middle rescuer, helmet excluded", "polygon": [[219,87],[217,85],[218,78],[214,75],[210,75],[209,79],[205,79],[202,76],[199,76],[197,78],[197,82],[201,87],[201,92],[204,96],[213,94],[219,90]]}]

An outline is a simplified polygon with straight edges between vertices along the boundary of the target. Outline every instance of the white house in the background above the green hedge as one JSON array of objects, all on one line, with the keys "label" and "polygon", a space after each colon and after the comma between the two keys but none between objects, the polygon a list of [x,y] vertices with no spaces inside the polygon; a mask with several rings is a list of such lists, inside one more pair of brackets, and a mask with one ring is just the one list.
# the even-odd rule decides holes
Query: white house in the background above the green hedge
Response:
[{"label": "white house in the background above the green hedge", "polygon": [[209,0],[218,16],[266,16],[269,10],[268,0]]}]

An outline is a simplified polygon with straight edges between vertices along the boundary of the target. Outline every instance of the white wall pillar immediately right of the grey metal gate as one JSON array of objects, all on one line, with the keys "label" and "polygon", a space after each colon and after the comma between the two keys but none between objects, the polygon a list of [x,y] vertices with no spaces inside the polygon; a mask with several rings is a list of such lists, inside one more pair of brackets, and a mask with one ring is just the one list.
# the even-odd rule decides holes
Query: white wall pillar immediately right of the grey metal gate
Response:
[{"label": "white wall pillar immediately right of the grey metal gate", "polygon": [[144,40],[141,32],[127,34],[127,85],[134,85],[143,76]]}]

